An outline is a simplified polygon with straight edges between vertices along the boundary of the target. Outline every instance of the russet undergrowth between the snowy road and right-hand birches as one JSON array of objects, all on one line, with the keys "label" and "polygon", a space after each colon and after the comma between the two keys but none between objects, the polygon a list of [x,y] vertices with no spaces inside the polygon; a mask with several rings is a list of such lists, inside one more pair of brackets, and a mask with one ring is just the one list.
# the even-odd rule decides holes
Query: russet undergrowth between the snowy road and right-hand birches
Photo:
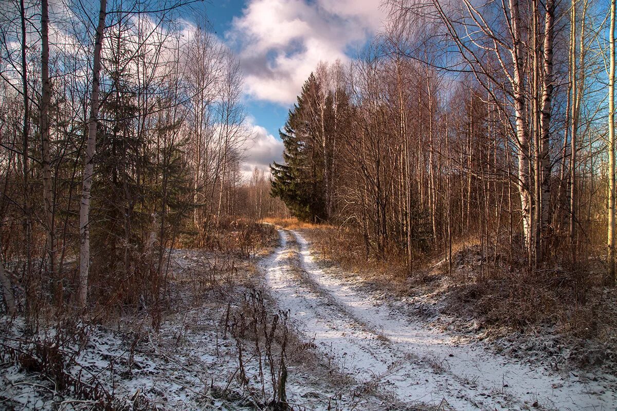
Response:
[{"label": "russet undergrowth between the snowy road and right-hand birches", "polygon": [[356,272],[380,291],[439,295],[445,312],[474,319],[476,327],[497,335],[508,329],[533,333],[549,327],[563,338],[594,340],[617,352],[617,315],[606,314],[615,312],[617,302],[602,287],[602,261],[589,250],[578,251],[578,260],[585,264],[566,257],[529,269],[521,258],[522,245],[506,238],[486,242],[471,237],[453,244],[449,272],[443,253],[415,254],[411,267],[395,251],[375,258],[366,252],[362,234],[350,227],[317,226],[304,234],[326,264]]}]

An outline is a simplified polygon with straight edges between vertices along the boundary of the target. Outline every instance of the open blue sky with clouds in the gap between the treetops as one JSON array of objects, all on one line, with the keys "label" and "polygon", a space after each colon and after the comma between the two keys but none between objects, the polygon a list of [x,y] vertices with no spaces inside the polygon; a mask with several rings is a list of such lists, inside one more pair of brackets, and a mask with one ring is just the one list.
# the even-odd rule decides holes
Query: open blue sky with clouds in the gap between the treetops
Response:
[{"label": "open blue sky with clouds in the gap between the treetops", "polygon": [[349,62],[384,17],[379,0],[205,0],[196,8],[189,20],[203,24],[204,12],[244,72],[244,103],[255,132],[246,172],[281,161],[278,129],[310,72],[320,61]]}]

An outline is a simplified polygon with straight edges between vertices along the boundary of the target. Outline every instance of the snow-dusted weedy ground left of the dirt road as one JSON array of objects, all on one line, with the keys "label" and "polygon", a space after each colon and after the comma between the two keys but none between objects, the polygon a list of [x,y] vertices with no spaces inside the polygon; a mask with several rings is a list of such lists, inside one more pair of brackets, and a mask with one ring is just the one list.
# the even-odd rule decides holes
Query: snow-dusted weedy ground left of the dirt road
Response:
[{"label": "snow-dusted weedy ground left of the dirt road", "polygon": [[[146,311],[64,323],[60,333],[57,323],[41,323],[35,335],[23,319],[0,319],[0,410],[271,409],[273,391],[280,389],[284,333],[284,385],[292,409],[395,409],[387,395],[348,378],[310,339],[283,326],[253,260],[175,250],[172,267],[174,304],[158,332]],[[255,312],[252,303],[264,311]],[[274,335],[270,348],[264,330]],[[59,348],[63,365],[56,368],[54,357],[36,346],[48,353]],[[30,354],[36,362],[28,361]]]}]

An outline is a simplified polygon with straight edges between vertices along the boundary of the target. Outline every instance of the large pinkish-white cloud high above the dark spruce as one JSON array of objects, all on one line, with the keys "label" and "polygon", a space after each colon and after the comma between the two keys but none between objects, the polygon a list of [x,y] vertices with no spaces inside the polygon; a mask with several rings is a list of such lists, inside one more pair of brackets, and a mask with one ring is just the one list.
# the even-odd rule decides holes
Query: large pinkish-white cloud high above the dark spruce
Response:
[{"label": "large pinkish-white cloud high above the dark spruce", "polygon": [[249,0],[226,39],[238,49],[247,94],[287,105],[320,60],[349,60],[346,50],[383,17],[379,0]]}]

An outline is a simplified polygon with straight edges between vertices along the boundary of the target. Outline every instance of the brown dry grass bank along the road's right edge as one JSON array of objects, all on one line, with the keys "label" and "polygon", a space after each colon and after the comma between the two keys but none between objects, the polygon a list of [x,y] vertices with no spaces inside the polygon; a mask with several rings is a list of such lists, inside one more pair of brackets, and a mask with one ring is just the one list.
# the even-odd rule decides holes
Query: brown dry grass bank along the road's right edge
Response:
[{"label": "brown dry grass bank along the road's right edge", "polygon": [[[351,230],[301,231],[323,264],[341,267],[339,275],[378,295],[413,298],[421,303],[416,314],[437,314],[443,327],[491,338],[512,332],[521,338],[552,336],[561,344],[558,355],[569,356],[568,362],[617,371],[617,299],[600,286],[599,261],[590,259],[584,269],[564,264],[530,272],[510,260],[509,249],[489,248],[487,255],[479,238],[466,238],[453,244],[452,272],[443,255],[418,256],[410,271],[396,254],[367,258],[362,237]],[[593,357],[585,346],[593,347]],[[568,354],[574,347],[581,352]]]}]

